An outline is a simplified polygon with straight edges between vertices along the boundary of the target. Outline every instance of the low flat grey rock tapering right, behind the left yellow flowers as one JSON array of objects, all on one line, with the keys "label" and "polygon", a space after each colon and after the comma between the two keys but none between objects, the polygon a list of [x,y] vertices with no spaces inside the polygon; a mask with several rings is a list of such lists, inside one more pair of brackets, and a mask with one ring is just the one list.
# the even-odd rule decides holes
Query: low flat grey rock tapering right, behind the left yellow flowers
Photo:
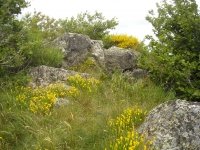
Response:
[{"label": "low flat grey rock tapering right, behind the left yellow flowers", "polygon": [[53,68],[48,66],[39,66],[30,69],[29,74],[32,77],[31,86],[47,86],[54,82],[63,82],[67,80],[68,76],[80,74],[81,76],[88,77],[86,73],[77,73],[71,70],[62,68]]}]

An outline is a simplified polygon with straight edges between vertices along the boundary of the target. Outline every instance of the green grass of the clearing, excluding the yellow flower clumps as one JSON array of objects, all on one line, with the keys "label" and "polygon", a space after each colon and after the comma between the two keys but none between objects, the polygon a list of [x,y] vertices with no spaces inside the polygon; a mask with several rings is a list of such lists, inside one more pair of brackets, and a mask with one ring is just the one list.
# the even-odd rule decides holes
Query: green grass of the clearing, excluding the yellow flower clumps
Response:
[{"label": "green grass of the clearing, excluding the yellow flower clumps", "polygon": [[[23,75],[16,78],[19,81],[26,79]],[[99,73],[96,78],[99,83],[95,85],[84,79],[79,81],[82,85],[78,85],[72,78],[68,82],[79,89],[80,94],[73,99],[69,97],[70,104],[50,109],[48,114],[33,113],[16,100],[21,94],[16,86],[22,86],[25,81],[15,83],[16,80],[2,79],[1,85],[7,86],[0,88],[0,149],[115,149],[109,146],[118,138],[110,131],[110,120],[121,116],[127,109],[138,106],[148,112],[174,98],[172,92],[164,91],[148,78],[136,81],[120,73]],[[85,85],[90,87],[85,88]],[[139,126],[141,122],[135,124]],[[132,131],[123,129],[122,139],[129,133]]]}]

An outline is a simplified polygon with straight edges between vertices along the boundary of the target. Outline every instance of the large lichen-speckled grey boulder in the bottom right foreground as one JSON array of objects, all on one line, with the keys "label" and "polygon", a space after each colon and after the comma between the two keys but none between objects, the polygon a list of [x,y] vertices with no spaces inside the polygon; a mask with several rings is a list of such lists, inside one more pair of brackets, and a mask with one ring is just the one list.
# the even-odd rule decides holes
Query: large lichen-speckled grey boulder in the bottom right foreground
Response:
[{"label": "large lichen-speckled grey boulder in the bottom right foreground", "polygon": [[155,150],[200,149],[200,103],[176,100],[153,109],[140,128]]}]

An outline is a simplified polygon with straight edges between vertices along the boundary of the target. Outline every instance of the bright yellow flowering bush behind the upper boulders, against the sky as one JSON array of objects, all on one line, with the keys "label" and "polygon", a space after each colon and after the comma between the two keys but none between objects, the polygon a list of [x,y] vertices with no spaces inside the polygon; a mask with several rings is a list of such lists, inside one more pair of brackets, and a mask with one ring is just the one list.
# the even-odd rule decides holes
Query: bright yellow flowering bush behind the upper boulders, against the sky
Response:
[{"label": "bright yellow flowering bush behind the upper boulders, against the sky", "polygon": [[137,49],[139,40],[136,37],[128,36],[126,34],[109,35],[104,39],[105,48],[117,46],[121,48]]}]

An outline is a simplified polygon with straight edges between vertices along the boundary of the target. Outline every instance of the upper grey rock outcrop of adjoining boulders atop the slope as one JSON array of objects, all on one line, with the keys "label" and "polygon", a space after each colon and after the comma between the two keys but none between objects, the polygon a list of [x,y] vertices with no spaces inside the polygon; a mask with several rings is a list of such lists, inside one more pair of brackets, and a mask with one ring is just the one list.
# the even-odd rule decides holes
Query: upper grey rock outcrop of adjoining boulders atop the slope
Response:
[{"label": "upper grey rock outcrop of adjoining boulders atop the slope", "polygon": [[104,49],[102,41],[91,40],[88,36],[77,33],[66,33],[54,42],[64,52],[63,68],[80,65],[88,57],[93,57],[102,70],[131,71],[131,76],[135,78],[146,75],[143,70],[137,68],[137,51],[119,47]]}]

